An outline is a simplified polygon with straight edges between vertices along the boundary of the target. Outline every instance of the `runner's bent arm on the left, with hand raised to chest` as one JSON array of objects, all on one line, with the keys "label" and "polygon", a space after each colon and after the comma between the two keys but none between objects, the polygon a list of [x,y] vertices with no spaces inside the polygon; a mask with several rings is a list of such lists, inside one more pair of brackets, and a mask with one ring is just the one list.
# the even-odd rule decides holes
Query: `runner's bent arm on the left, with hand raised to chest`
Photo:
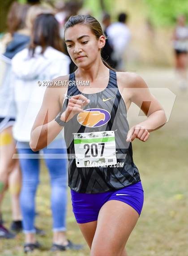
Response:
[{"label": "runner's bent arm on the left, with hand raised to chest", "polygon": [[[55,118],[61,111],[63,105],[62,95],[66,91],[67,86],[63,88],[57,86],[47,87],[42,106],[31,130],[30,148],[33,151],[45,148],[63,129],[63,126],[60,126],[55,121]],[[60,119],[65,122],[69,121],[75,114],[83,112],[82,108],[88,103],[87,98],[81,94],[73,96],[69,99],[66,111],[62,113]]]}]

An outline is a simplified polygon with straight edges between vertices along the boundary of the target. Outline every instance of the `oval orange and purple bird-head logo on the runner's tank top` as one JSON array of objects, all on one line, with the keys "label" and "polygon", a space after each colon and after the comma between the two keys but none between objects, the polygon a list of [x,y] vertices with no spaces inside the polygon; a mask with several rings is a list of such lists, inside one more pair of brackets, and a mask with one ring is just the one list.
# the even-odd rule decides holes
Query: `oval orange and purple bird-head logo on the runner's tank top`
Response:
[{"label": "oval orange and purple bird-head logo on the runner's tank top", "polygon": [[102,108],[85,109],[77,115],[77,121],[82,126],[99,127],[105,125],[111,118],[110,113]]}]

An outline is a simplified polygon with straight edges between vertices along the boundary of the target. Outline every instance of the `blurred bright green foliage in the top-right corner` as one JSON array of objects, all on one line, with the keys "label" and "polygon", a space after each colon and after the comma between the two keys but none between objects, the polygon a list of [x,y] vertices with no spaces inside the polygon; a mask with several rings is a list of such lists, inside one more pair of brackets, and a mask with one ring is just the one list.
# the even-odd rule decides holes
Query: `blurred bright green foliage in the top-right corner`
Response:
[{"label": "blurred bright green foliage in the top-right corner", "polygon": [[144,0],[148,18],[155,26],[171,26],[180,14],[188,17],[187,0]]}]

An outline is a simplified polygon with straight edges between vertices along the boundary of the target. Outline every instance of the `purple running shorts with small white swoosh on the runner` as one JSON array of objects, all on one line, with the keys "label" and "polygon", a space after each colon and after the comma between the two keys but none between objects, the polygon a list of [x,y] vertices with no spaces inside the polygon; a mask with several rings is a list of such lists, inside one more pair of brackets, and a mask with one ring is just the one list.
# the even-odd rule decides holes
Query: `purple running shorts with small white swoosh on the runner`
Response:
[{"label": "purple running shorts with small white swoosh on the runner", "polygon": [[107,201],[119,200],[134,208],[139,216],[144,203],[144,190],[141,181],[123,189],[98,194],[77,193],[71,189],[73,213],[77,223],[98,219],[98,213]]}]

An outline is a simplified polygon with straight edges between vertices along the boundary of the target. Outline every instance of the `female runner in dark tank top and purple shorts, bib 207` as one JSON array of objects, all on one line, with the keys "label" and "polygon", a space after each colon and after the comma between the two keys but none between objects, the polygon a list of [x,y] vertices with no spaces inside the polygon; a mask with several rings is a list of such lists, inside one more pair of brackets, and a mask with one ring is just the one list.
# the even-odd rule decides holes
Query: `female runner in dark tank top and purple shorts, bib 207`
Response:
[{"label": "female runner in dark tank top and purple shorts, bib 207", "polygon": [[[131,142],[145,142],[167,119],[140,76],[115,72],[103,61],[105,36],[95,18],[70,17],[65,42],[78,68],[47,88],[30,147],[46,147],[64,127],[73,212],[91,255],[126,256],[125,245],[143,205]],[[86,81],[89,86],[79,86]],[[147,119],[129,129],[131,102]]]}]

